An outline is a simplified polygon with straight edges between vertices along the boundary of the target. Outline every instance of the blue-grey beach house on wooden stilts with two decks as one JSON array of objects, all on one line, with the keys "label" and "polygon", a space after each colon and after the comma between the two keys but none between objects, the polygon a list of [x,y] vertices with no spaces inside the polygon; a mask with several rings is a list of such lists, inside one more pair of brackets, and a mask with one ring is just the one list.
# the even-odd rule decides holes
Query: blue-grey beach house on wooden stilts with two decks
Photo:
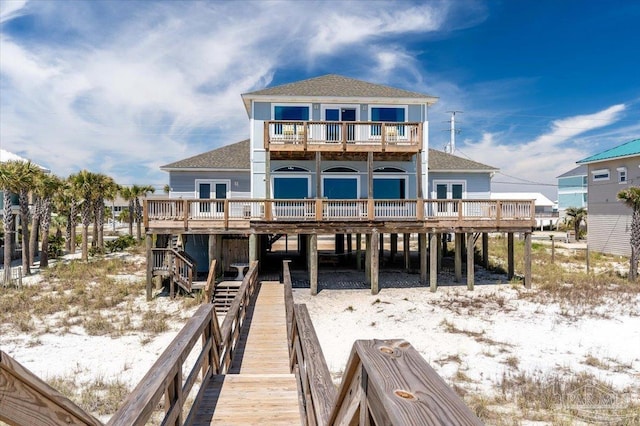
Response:
[{"label": "blue-grey beach house on wooden stilts with two decks", "polygon": [[[491,232],[507,234],[510,276],[513,237],[523,236],[524,282],[531,284],[533,200],[491,200],[495,169],[429,150],[436,97],[325,75],[242,100],[249,139],[163,166],[168,196],[145,200],[149,297],[154,274],[164,271],[191,290],[212,260],[221,270],[248,260],[264,265],[283,237],[296,241],[313,294],[319,268],[335,263],[364,270],[377,293],[385,242],[407,269],[412,248],[419,252],[420,282],[435,291],[449,239],[456,278],[466,259],[472,289],[475,246],[480,239],[487,263]],[[328,235],[334,256],[319,254],[318,236]]]}]

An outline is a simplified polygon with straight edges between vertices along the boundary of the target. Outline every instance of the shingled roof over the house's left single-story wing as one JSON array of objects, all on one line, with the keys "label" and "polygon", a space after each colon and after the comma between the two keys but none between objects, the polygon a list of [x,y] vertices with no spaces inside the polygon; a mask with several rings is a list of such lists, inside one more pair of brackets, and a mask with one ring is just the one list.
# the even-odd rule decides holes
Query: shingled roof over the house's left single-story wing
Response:
[{"label": "shingled roof over the house's left single-story wing", "polygon": [[160,167],[160,170],[249,170],[249,139]]}]

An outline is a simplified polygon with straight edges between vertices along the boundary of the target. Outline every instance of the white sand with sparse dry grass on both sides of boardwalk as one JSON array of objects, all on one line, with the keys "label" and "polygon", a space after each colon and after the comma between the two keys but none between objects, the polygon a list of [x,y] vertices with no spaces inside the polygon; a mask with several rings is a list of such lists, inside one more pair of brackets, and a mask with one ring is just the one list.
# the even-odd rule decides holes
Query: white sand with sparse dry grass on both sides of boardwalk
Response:
[{"label": "white sand with sparse dry grass on both sides of boardwalk", "polygon": [[[30,277],[27,285],[37,285],[38,279]],[[312,297],[308,289],[295,289],[294,297],[307,305],[336,379],[355,340],[405,339],[449,383],[464,372],[472,381],[457,384],[479,395],[491,395],[505,373],[586,371],[640,397],[640,296],[574,313],[571,307],[532,302],[521,297],[523,291],[491,284],[477,285],[473,292],[461,285],[439,287],[436,293],[428,288],[383,288],[378,295],[323,290]],[[147,304],[143,296],[136,303]],[[88,336],[81,327],[32,337],[0,325],[0,348],[44,379],[71,376],[82,385],[117,378],[133,389],[195,311],[183,309],[179,299],[159,298],[151,305],[147,308],[158,312],[183,310],[182,319],[152,337],[143,332]],[[445,360],[452,355],[460,362]],[[602,365],[587,365],[588,356]]]}]

